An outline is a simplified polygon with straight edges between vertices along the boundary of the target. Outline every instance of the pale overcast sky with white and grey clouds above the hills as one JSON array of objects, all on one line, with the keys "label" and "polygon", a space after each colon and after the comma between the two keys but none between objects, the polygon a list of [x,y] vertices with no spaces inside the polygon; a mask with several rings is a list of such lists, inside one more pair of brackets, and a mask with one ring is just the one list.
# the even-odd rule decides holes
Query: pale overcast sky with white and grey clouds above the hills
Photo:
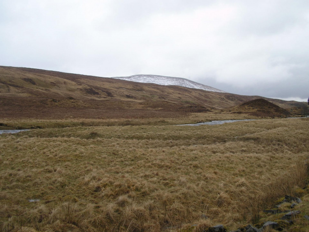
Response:
[{"label": "pale overcast sky with white and grey clouds above the hills", "polygon": [[309,0],[0,0],[0,65],[307,101]]}]

